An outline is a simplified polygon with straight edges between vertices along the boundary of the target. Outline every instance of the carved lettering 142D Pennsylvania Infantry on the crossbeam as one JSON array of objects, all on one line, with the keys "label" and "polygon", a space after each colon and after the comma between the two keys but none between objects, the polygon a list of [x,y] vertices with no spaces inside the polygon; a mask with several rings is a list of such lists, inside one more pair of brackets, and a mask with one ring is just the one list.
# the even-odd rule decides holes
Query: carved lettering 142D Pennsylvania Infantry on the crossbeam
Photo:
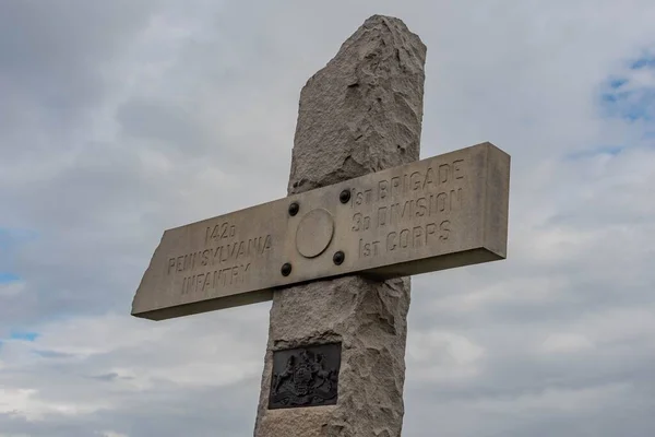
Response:
[{"label": "carved lettering 142D Pennsylvania Infantry on the crossbeam", "polygon": [[223,222],[206,227],[202,250],[169,258],[166,274],[183,274],[183,295],[242,284],[271,248],[271,235],[241,239],[237,226]]}]

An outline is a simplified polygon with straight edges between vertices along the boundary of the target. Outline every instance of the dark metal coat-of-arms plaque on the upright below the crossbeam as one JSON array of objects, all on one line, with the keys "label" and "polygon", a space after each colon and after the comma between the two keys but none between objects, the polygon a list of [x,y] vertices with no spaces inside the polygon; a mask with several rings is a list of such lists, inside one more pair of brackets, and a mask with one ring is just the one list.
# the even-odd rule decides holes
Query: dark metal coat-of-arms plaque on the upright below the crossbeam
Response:
[{"label": "dark metal coat-of-arms plaque on the upright below the crossbeam", "polygon": [[273,352],[269,410],[334,405],[341,343]]}]

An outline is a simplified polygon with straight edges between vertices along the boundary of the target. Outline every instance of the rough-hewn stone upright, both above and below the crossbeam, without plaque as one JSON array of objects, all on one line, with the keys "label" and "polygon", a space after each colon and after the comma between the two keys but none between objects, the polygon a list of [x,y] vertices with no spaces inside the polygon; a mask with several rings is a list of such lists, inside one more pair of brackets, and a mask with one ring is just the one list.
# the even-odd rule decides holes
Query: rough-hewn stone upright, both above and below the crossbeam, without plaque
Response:
[{"label": "rough-hewn stone upright, both above and below the crossbeam, without plaque", "polygon": [[[374,15],[300,95],[289,193],[417,161],[426,47]],[[345,276],[273,296],[255,437],[396,437],[404,406],[409,280]],[[273,351],[342,342],[338,402],[267,410]]]}]

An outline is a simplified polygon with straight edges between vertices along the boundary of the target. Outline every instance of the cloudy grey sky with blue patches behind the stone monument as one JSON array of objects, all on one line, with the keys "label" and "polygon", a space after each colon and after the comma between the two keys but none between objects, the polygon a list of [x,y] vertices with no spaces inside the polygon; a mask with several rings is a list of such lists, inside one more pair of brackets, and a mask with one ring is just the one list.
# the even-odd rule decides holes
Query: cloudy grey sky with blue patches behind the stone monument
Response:
[{"label": "cloudy grey sky with blue patches behind the stone monument", "polygon": [[403,435],[653,434],[652,0],[1,0],[0,437],[252,434],[270,303],[132,296],[165,228],[285,196],[374,13],[428,46],[421,157],[513,160],[508,260],[414,280]]}]

